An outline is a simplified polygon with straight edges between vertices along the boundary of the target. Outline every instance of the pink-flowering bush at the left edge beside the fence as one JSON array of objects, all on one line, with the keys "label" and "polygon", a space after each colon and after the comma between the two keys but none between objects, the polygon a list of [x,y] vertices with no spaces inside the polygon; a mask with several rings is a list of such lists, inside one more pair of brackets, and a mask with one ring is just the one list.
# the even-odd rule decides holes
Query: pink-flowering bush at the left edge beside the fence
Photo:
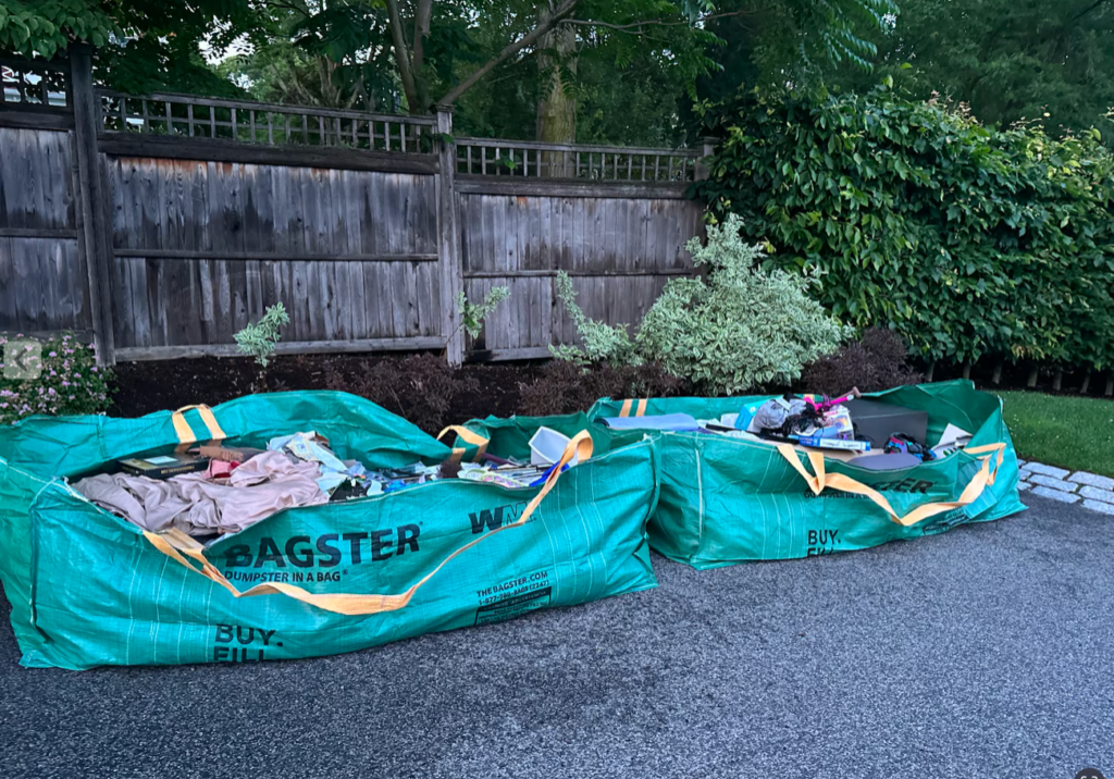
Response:
[{"label": "pink-flowering bush at the left edge beside the fence", "polygon": [[110,371],[98,368],[92,347],[72,333],[41,341],[41,372],[35,379],[7,378],[10,371],[3,370],[2,358],[7,344],[0,335],[0,425],[32,413],[102,413],[108,407]]}]

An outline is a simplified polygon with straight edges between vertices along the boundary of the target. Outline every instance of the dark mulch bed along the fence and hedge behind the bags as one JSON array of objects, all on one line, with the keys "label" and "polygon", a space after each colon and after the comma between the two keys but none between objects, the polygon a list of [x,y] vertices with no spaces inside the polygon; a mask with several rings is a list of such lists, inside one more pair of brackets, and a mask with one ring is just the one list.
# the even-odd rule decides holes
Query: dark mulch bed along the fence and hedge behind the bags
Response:
[{"label": "dark mulch bed along the fence and hedge behind the bags", "polygon": [[[920,367],[922,370],[925,366]],[[272,360],[265,374],[250,358],[199,358],[166,362],[131,362],[116,367],[117,391],[108,413],[137,417],[192,403],[216,406],[252,392],[287,390],[341,390],[368,398],[409,419],[427,432],[477,417],[515,413],[566,413],[587,408],[596,398],[661,397],[686,395],[692,388],[668,378],[659,369],[615,370],[597,366],[589,374],[568,363],[504,362],[468,364],[451,370],[434,353],[302,354]],[[1006,366],[1000,384],[990,382],[990,361],[977,363],[971,378],[988,392],[1028,389],[1027,369]],[[959,378],[961,367],[939,363],[935,379]],[[853,377],[848,380],[859,381]],[[1077,395],[1082,373],[1066,373],[1058,395]],[[1101,396],[1103,376],[1091,382],[1092,397]],[[754,393],[775,393],[786,388],[768,387]],[[795,391],[818,388],[794,387]],[[829,391],[843,391],[848,388]],[[883,387],[863,389],[883,389]],[[1054,393],[1052,378],[1042,376],[1037,391]]]}]

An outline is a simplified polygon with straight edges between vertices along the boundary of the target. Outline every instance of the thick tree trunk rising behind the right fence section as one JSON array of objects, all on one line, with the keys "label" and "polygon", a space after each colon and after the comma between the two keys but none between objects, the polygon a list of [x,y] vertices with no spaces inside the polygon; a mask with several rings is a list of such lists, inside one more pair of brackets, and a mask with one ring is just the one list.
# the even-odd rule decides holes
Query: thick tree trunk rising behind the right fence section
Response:
[{"label": "thick tree trunk rising behind the right fence section", "polygon": [[[538,9],[538,25],[545,25],[553,14],[549,2]],[[538,70],[541,85],[538,90],[537,139],[550,144],[576,143],[576,30],[571,25],[558,25],[546,32],[538,42]],[[575,164],[565,164],[566,155],[543,154],[541,167],[549,176],[575,177]]]}]

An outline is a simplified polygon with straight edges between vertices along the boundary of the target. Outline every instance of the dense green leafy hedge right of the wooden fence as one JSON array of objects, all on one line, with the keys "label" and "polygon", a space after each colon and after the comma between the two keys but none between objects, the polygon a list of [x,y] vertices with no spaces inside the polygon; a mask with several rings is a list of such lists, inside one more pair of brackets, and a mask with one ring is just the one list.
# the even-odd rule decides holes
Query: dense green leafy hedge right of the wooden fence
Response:
[{"label": "dense green leafy hedge right of the wooden fence", "polygon": [[1114,362],[1114,158],[1097,130],[993,130],[891,91],[711,109],[696,193],[822,274],[821,302],[927,359]]}]

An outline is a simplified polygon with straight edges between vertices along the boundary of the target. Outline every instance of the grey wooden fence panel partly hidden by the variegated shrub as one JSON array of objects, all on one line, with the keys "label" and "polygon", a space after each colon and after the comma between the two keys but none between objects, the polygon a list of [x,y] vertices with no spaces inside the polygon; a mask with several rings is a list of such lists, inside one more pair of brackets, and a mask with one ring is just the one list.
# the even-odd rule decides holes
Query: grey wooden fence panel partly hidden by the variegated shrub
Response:
[{"label": "grey wooden fence panel partly hidden by the variegated shrub", "polygon": [[[511,296],[472,344],[508,359],[550,343],[575,343],[576,328],[555,299],[558,270],[574,277],[585,313],[632,332],[665,283],[693,270],[684,244],[703,237],[697,203],[675,198],[460,195],[465,289],[478,302],[506,285]],[[646,192],[643,194],[653,194]],[[529,350],[534,349],[534,352]]]}]

